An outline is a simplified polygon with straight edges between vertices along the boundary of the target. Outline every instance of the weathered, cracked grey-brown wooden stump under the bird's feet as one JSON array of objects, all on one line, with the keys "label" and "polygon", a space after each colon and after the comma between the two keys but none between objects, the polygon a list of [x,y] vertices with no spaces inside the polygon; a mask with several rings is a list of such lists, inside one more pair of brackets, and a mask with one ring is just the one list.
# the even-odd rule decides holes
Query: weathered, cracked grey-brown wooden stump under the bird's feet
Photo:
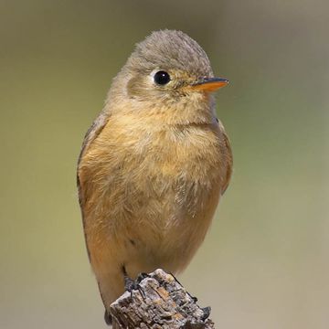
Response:
[{"label": "weathered, cracked grey-brown wooden stump under the bird's feet", "polygon": [[163,270],[143,279],[140,289],[124,292],[111,303],[113,329],[211,329],[210,309],[196,304],[185,288]]}]

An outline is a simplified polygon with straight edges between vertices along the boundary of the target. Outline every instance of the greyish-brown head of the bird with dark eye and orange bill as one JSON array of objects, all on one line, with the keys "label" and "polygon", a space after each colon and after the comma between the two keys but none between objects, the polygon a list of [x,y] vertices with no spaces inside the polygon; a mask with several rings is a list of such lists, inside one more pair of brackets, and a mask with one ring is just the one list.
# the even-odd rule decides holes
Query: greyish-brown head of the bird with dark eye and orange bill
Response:
[{"label": "greyish-brown head of the bird with dark eye and orange bill", "polygon": [[181,31],[161,30],[136,45],[110,94],[119,102],[124,98],[139,104],[136,108],[150,115],[164,113],[175,122],[193,122],[199,116],[204,122],[214,116],[210,93],[227,84],[214,77],[195,40]]}]

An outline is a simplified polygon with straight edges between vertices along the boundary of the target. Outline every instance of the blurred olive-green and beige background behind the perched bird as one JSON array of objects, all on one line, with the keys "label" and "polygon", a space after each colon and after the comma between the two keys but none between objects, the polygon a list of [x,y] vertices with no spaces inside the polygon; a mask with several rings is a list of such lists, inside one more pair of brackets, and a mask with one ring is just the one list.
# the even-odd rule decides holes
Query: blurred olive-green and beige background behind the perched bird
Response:
[{"label": "blurred olive-green and beige background behind the perched bird", "polygon": [[0,1],[0,328],[105,328],[77,158],[133,45],[165,27],[231,82],[234,176],[179,279],[218,328],[328,328],[325,0]]}]

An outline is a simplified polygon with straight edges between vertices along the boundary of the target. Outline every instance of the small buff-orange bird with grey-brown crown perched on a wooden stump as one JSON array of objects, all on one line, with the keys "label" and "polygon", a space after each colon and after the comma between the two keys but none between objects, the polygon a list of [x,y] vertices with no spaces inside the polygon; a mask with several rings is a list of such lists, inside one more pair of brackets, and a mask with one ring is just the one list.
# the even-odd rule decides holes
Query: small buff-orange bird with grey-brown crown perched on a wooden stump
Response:
[{"label": "small buff-orange bird with grey-brown crown perched on a wooden stump", "polygon": [[112,81],[78,164],[85,239],[109,324],[126,277],[182,271],[205,238],[232,172],[211,93],[227,84],[196,41],[175,30],[137,44]]}]

